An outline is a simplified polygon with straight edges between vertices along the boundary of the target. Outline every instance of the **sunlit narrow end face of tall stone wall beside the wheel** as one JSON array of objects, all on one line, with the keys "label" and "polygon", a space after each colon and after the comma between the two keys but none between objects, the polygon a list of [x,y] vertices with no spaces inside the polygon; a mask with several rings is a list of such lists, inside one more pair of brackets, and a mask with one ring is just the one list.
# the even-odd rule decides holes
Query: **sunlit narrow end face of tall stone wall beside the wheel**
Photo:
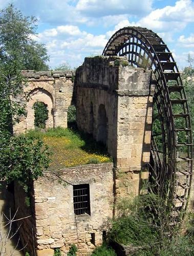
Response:
[{"label": "sunlit narrow end face of tall stone wall beside the wheel", "polygon": [[116,191],[136,196],[145,179],[150,157],[153,93],[150,71],[123,67],[119,70]]}]

